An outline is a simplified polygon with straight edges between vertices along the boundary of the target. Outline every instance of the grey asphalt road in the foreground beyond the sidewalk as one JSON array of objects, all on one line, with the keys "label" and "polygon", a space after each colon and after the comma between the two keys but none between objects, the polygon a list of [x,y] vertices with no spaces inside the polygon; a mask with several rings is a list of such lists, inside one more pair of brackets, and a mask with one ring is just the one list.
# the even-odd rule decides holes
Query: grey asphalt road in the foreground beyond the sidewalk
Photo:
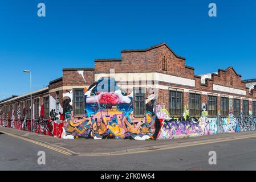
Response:
[{"label": "grey asphalt road in the foreground beyond the sidewalk", "polygon": [[[37,163],[38,151],[46,165]],[[209,165],[209,151],[217,164]],[[115,156],[68,156],[0,134],[0,170],[256,170],[256,138]]]}]

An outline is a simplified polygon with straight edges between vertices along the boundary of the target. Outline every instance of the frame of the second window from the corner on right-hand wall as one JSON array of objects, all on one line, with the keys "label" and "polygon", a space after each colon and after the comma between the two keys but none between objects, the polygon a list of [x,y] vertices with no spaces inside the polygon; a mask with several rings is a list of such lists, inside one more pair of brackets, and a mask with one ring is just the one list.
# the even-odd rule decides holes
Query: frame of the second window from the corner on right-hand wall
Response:
[{"label": "frame of the second window from the corner on right-hand wall", "polygon": [[[192,98],[192,96],[194,96],[194,98]],[[196,98],[196,96],[199,96],[199,101],[198,101],[198,98]],[[194,103],[192,103],[193,100],[194,100]],[[198,107],[198,109],[194,109],[194,107]],[[198,116],[200,115],[200,111],[201,111],[201,93],[189,92],[189,115]]]}]

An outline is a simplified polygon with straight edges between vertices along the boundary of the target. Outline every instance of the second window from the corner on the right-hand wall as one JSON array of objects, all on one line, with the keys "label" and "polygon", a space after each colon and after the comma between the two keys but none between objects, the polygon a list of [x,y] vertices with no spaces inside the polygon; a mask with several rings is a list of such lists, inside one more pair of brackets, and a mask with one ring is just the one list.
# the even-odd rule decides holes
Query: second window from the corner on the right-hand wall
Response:
[{"label": "second window from the corner on the right-hand wall", "polygon": [[189,93],[189,114],[200,115],[200,94]]}]

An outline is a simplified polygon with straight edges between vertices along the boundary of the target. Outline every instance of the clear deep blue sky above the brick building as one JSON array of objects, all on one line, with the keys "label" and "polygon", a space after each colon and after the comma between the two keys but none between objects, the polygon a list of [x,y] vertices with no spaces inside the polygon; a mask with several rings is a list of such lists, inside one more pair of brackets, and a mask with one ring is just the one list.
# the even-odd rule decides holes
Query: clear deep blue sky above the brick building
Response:
[{"label": "clear deep blue sky above the brick building", "polygon": [[[37,5],[46,5],[46,17]],[[217,17],[208,16],[210,2]],[[200,75],[232,65],[256,78],[256,1],[0,0],[0,100],[47,86],[62,68],[166,42]]]}]

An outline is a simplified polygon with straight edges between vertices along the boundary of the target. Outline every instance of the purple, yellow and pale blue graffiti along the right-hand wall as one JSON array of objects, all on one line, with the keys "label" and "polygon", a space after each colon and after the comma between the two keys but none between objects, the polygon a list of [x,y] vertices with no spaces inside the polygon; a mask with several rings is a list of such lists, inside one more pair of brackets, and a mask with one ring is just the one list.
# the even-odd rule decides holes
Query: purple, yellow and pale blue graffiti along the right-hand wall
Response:
[{"label": "purple, yellow and pale blue graffiti along the right-hand wall", "polygon": [[[161,130],[157,139],[173,139],[185,137],[197,137],[202,135],[213,135],[221,133],[236,133],[241,131],[255,131],[256,118],[234,117],[229,114],[229,117],[208,117],[207,106],[202,104],[202,115],[200,118],[189,117],[186,119],[170,117],[165,109],[157,110],[157,117],[161,121]],[[185,109],[186,110],[186,107]]]}]

